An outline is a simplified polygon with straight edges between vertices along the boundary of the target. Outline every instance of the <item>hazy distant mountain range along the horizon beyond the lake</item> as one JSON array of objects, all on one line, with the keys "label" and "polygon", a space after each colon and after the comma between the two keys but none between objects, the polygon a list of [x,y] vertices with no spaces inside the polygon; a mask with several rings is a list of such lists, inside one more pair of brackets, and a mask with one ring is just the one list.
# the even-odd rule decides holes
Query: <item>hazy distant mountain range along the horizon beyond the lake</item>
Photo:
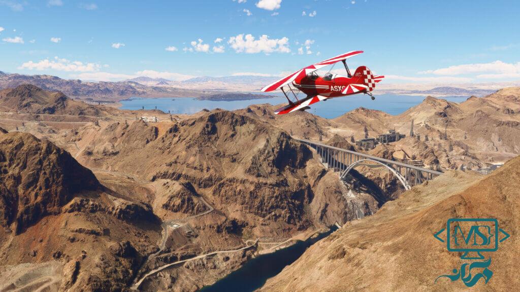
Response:
[{"label": "hazy distant mountain range along the horizon beyond the lake", "polygon": [[[22,84],[32,84],[45,90],[61,91],[69,97],[96,101],[119,101],[129,97],[194,97],[207,98],[222,92],[258,92],[266,84],[274,82],[276,76],[200,76],[185,81],[171,81],[165,78],[136,77],[120,82],[86,82],[79,79],[62,79],[52,75],[7,74],[0,71],[0,89],[15,88]],[[496,90],[465,85],[465,88],[441,86],[432,89],[423,86],[403,85],[380,87],[378,92],[398,95],[431,96],[486,96]],[[418,89],[420,88],[420,89]],[[227,96],[225,99],[227,99]],[[221,97],[218,97],[220,99]],[[245,96],[237,97],[239,99]],[[235,99],[235,98],[231,98]],[[248,98],[249,99],[249,98]]]}]

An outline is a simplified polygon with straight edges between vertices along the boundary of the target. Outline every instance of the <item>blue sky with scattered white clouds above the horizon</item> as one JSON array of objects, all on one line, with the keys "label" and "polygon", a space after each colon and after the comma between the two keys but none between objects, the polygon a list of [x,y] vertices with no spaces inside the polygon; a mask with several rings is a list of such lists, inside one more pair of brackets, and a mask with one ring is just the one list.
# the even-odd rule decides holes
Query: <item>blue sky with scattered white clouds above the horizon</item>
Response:
[{"label": "blue sky with scattered white clouds above the horizon", "polygon": [[388,82],[518,81],[518,11],[517,1],[0,0],[0,71],[279,75],[364,50],[350,67]]}]

